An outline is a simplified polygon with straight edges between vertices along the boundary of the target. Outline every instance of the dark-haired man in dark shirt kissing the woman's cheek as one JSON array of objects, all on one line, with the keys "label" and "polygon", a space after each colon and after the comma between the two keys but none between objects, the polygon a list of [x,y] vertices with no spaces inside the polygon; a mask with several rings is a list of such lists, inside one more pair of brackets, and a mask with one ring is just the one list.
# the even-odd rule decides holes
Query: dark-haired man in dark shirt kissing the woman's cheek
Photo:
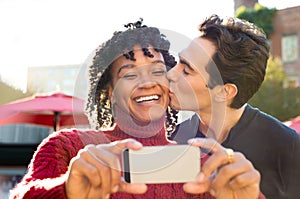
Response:
[{"label": "dark-haired man in dark shirt kissing the woman's cheek", "polygon": [[216,15],[199,31],[168,72],[171,106],[197,113],[178,125],[171,139],[214,138],[242,152],[260,171],[266,198],[300,198],[299,135],[247,104],[265,76],[269,45],[264,32]]}]

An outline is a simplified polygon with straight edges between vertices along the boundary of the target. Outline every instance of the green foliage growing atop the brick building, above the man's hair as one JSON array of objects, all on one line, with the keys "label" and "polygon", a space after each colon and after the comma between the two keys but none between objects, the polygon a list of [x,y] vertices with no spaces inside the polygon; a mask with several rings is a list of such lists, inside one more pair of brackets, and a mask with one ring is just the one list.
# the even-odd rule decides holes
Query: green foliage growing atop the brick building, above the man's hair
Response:
[{"label": "green foliage growing atop the brick building, above the man's hair", "polygon": [[254,9],[246,8],[245,6],[239,7],[236,10],[235,16],[256,24],[258,27],[262,28],[269,37],[274,31],[272,21],[275,14],[275,8],[267,8],[256,3]]}]

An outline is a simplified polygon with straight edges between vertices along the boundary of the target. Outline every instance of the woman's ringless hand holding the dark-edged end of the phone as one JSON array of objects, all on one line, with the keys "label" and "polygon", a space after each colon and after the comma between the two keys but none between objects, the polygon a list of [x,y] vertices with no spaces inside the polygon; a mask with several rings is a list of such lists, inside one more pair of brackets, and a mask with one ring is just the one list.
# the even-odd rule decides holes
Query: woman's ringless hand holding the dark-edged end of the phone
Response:
[{"label": "woman's ringless hand holding the dark-edged end of the phone", "polygon": [[110,144],[87,145],[69,165],[65,184],[66,195],[72,199],[109,198],[111,193],[124,191],[141,194],[145,184],[127,184],[121,178],[120,157],[125,148],[139,150],[142,144],[126,139]]}]

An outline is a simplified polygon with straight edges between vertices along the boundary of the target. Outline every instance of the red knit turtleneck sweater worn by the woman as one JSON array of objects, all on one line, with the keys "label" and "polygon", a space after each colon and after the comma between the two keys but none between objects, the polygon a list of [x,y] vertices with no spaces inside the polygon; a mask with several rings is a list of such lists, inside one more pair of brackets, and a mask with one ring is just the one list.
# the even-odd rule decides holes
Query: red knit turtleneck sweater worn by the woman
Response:
[{"label": "red knit turtleneck sweater worn by the woman", "polygon": [[[128,122],[115,126],[112,130],[100,131],[79,131],[77,129],[62,130],[54,133],[45,139],[37,151],[28,167],[28,172],[22,181],[11,191],[11,199],[33,199],[33,198],[55,198],[66,199],[65,181],[66,172],[70,160],[77,155],[77,152],[87,144],[109,143],[110,141],[122,140],[133,137],[133,134],[142,133],[144,136],[134,137],[144,146],[171,144],[165,136],[163,119],[151,128],[128,126]],[[125,132],[130,132],[131,135]],[[157,132],[157,133],[153,133]],[[136,134],[137,135],[137,134]],[[150,136],[150,137],[149,137]],[[142,137],[142,138],[141,138]],[[188,169],[188,168],[187,168]],[[184,171],[182,171],[184,172]],[[182,189],[182,184],[150,184],[145,194],[134,195],[127,193],[115,193],[111,198],[129,199],[174,199],[174,198],[207,198],[211,199],[209,193],[201,195],[187,194]]]}]

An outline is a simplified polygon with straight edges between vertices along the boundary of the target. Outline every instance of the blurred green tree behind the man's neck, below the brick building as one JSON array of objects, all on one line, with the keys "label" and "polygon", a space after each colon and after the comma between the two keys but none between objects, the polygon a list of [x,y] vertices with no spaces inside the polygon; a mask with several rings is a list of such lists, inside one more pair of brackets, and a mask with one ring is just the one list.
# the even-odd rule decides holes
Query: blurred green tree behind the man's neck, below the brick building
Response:
[{"label": "blurred green tree behind the man's neck, below the brick building", "polygon": [[288,87],[288,78],[279,58],[270,57],[265,80],[249,104],[286,121],[299,115],[300,87]]}]

